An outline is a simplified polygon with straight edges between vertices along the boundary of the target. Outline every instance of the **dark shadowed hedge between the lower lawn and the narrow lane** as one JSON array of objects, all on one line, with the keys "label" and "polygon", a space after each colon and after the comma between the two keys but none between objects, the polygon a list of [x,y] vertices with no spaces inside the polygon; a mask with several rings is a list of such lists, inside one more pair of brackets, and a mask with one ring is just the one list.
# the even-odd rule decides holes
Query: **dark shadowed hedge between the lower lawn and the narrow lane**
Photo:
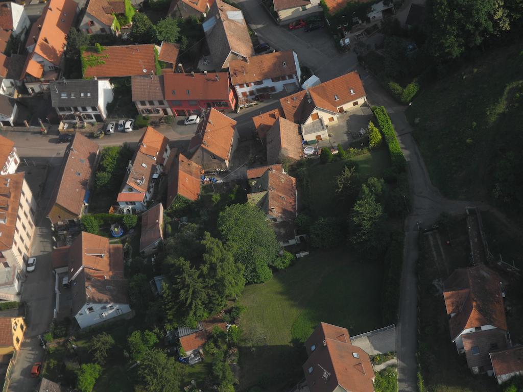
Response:
[{"label": "dark shadowed hedge between the lower lawn and the narrow lane", "polygon": [[396,324],[401,293],[401,271],[403,266],[403,244],[405,235],[400,230],[392,233],[389,249],[384,260],[383,321]]}]

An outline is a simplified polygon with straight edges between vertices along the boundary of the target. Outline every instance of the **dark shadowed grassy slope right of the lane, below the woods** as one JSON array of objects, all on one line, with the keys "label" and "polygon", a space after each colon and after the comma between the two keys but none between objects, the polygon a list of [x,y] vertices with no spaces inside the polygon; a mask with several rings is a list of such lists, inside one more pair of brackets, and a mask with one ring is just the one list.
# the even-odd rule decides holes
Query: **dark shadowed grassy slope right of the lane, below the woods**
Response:
[{"label": "dark shadowed grassy slope right of the lane, below the woods", "polygon": [[448,197],[490,199],[499,158],[521,146],[521,48],[482,54],[436,80],[407,110],[430,177]]}]

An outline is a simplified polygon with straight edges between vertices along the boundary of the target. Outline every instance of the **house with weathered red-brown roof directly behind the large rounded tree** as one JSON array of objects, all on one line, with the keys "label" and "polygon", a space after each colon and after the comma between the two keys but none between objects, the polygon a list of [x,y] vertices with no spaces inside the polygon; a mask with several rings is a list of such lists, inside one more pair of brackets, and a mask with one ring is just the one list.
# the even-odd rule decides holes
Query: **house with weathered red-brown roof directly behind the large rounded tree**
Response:
[{"label": "house with weathered red-brown roof directly behind the large rounded tree", "polygon": [[247,170],[250,192],[247,202],[266,214],[280,246],[300,243],[294,220],[297,215],[296,179],[285,173],[282,165]]}]

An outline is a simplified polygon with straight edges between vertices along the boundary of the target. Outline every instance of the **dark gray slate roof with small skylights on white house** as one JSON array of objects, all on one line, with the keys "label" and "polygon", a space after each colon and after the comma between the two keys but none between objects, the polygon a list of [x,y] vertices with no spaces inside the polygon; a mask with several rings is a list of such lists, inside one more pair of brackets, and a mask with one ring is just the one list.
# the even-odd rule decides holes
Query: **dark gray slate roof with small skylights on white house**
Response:
[{"label": "dark gray slate roof with small skylights on white house", "polygon": [[[98,105],[98,80],[58,80],[49,84],[49,90],[53,108]],[[62,94],[67,98],[62,98]]]}]

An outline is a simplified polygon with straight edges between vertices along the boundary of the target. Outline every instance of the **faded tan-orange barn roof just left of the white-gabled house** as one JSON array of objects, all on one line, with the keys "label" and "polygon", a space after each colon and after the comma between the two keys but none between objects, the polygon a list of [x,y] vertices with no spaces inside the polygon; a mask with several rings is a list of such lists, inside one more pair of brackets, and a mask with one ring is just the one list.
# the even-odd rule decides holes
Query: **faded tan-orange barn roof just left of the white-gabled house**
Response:
[{"label": "faded tan-orange barn roof just left of the white-gabled house", "polygon": [[267,132],[267,163],[280,163],[282,157],[299,160],[302,153],[302,139],[298,125],[280,117]]}]

